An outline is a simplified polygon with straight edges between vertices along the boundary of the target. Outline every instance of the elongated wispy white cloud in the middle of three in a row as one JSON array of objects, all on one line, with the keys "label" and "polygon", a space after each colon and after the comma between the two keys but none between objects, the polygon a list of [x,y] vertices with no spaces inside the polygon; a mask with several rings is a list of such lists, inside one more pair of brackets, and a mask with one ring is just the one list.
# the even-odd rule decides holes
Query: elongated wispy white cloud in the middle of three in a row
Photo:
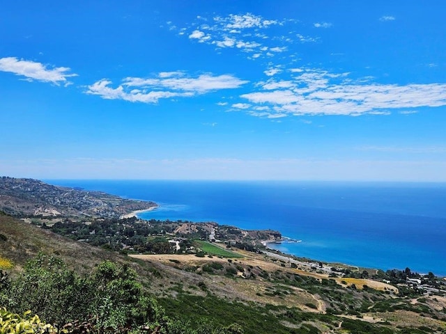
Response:
[{"label": "elongated wispy white cloud in the middle of three in a row", "polygon": [[163,98],[191,97],[212,90],[238,88],[247,82],[229,74],[185,77],[179,71],[160,72],[153,78],[127,77],[116,88],[112,88],[112,81],[102,79],[89,86],[86,93],[107,100],[156,103]]}]

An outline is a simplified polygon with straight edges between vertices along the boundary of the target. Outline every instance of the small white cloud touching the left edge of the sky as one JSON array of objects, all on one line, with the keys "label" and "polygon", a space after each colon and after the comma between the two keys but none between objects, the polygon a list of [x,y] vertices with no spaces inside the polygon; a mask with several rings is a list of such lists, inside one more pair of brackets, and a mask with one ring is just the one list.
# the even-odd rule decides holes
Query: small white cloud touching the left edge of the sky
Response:
[{"label": "small white cloud touching the left edge of the sky", "polygon": [[11,72],[26,77],[26,80],[51,82],[52,84],[71,84],[67,78],[77,77],[77,74],[69,74],[69,67],[47,68],[42,63],[19,60],[15,57],[0,58],[0,71]]}]

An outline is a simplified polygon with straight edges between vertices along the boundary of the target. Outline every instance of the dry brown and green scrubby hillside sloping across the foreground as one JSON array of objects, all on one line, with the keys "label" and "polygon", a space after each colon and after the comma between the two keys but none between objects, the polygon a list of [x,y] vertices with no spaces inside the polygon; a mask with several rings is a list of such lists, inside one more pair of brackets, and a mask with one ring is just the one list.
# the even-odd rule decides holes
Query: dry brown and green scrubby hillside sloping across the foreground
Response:
[{"label": "dry brown and green scrubby hillside sloping across the foreground", "polygon": [[0,215],[0,234],[0,256],[13,263],[11,273],[41,252],[61,257],[84,274],[103,260],[128,264],[169,317],[192,324],[203,319],[221,326],[236,322],[244,333],[444,333],[446,328],[444,296],[395,294],[392,286],[369,279],[330,279],[280,257],[232,250],[238,257],[134,258],[5,214]]}]

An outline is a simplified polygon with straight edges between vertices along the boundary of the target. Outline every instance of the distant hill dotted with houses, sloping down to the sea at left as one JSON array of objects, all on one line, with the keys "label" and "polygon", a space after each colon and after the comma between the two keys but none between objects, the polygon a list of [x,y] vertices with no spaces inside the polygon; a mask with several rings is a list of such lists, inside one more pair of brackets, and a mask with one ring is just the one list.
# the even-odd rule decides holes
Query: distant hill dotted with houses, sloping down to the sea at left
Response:
[{"label": "distant hill dotted with houses, sloping down to the sea at left", "polygon": [[127,200],[100,191],[52,186],[33,179],[0,177],[0,209],[14,216],[102,216],[116,218],[155,202]]}]

